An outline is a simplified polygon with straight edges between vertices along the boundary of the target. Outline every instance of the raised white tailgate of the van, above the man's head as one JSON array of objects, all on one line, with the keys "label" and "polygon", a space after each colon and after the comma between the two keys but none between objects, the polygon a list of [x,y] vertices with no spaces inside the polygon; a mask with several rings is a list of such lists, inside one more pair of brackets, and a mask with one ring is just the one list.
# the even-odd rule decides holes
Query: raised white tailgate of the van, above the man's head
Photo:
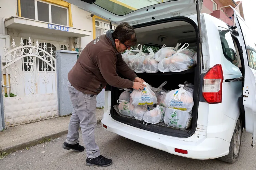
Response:
[{"label": "raised white tailgate of the van, above the man's head", "polygon": [[[196,14],[197,0],[66,0],[116,24],[142,24],[175,16]],[[95,2],[93,2],[95,1]],[[200,11],[202,0],[199,1]]]}]

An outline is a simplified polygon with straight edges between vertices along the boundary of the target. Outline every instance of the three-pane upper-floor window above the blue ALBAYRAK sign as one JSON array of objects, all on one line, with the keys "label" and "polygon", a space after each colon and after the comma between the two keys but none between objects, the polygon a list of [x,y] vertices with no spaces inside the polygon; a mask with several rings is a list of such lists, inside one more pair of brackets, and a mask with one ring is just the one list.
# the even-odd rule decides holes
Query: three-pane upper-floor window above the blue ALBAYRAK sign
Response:
[{"label": "three-pane upper-floor window above the blue ALBAYRAK sign", "polygon": [[66,7],[39,0],[20,0],[20,8],[21,16],[24,18],[68,26],[68,9]]}]

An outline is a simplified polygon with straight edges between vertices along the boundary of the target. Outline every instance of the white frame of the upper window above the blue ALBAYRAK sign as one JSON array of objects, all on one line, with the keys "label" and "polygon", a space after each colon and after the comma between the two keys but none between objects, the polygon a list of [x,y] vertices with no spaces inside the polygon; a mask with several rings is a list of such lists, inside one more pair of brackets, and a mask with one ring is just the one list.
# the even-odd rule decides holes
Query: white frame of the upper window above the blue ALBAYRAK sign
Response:
[{"label": "white frame of the upper window above the blue ALBAYRAK sign", "polygon": [[[46,4],[49,5],[49,7],[48,7],[49,22],[46,22],[46,23],[50,23],[50,24],[55,24],[55,23],[52,23],[52,5],[66,9],[66,11],[67,11],[67,25],[66,25],[66,27],[69,27],[69,11],[68,11],[68,8],[64,7],[64,6],[56,5],[56,4],[53,4],[53,3],[45,2],[45,1],[42,1],[42,0],[34,0],[34,8],[35,8],[35,19],[34,20],[40,21],[40,20],[38,20],[37,2],[42,2],[42,3],[46,3]],[[17,10],[17,14],[18,14],[18,8],[16,10]],[[28,18],[28,19],[30,19],[30,18]],[[45,21],[40,21],[40,22],[45,22]],[[59,24],[56,24],[56,25],[59,25]],[[65,25],[63,25],[63,26],[65,26]]]}]

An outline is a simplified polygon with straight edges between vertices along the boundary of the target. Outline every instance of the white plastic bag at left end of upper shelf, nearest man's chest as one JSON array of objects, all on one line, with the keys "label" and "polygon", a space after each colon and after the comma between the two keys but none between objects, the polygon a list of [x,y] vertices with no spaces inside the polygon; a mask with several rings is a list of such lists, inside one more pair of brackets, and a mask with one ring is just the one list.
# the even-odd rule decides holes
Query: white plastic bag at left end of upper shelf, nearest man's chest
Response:
[{"label": "white plastic bag at left end of upper shelf, nearest man's chest", "polygon": [[[141,46],[140,49],[138,49],[139,46]],[[142,45],[139,44],[136,50],[138,50],[138,53],[136,55],[128,57],[128,67],[136,73],[144,73],[145,70],[143,68],[143,61],[146,55],[142,52]]]}]

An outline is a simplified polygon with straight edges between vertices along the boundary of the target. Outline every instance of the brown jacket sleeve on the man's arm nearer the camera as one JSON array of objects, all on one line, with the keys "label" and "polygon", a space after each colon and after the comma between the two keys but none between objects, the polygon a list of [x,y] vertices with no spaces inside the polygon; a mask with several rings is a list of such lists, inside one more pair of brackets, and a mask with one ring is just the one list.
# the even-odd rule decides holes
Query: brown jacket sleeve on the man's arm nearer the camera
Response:
[{"label": "brown jacket sleeve on the man's arm nearer the camera", "polygon": [[132,88],[133,82],[121,78],[116,73],[116,54],[112,51],[104,50],[96,56],[96,65],[100,73],[110,86],[117,88]]}]

